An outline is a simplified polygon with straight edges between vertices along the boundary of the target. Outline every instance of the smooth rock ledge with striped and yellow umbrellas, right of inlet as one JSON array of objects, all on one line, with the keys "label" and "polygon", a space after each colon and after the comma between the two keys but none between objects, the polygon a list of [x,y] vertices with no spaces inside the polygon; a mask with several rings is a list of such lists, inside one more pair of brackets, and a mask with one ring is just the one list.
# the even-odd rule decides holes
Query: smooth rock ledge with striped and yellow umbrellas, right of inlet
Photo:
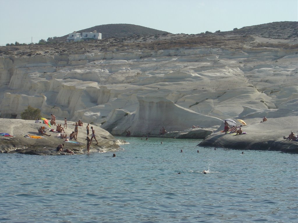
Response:
[{"label": "smooth rock ledge with striped and yellow umbrellas, right of inlet", "polygon": [[221,125],[198,145],[298,153],[298,142],[283,139],[283,136],[288,137],[291,131],[297,132],[297,117],[271,118],[264,123],[260,123],[260,120],[247,120],[247,126],[241,127],[247,134],[242,135],[225,134],[221,132],[224,129]]}]

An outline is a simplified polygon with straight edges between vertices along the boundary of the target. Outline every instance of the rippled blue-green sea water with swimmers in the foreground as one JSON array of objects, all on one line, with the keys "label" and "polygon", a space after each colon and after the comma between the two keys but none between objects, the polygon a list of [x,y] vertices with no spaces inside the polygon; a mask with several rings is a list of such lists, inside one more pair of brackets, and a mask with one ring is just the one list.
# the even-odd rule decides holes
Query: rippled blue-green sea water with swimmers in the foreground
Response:
[{"label": "rippled blue-green sea water with swimmers in the foreground", "polygon": [[0,222],[297,223],[297,154],[125,139],[115,158],[0,154]]}]

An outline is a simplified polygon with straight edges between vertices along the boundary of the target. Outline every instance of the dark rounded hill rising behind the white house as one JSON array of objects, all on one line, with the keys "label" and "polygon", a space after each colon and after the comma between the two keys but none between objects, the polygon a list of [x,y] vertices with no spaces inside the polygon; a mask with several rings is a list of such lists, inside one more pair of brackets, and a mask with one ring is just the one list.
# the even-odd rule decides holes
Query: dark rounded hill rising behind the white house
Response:
[{"label": "dark rounded hill rising behind the white house", "polygon": [[[138,25],[132,25],[132,24],[106,24],[106,25],[93,26],[87,29],[75,30],[75,31],[78,33],[82,33],[82,32],[93,32],[94,30],[96,30],[97,32],[100,32],[102,34],[103,39],[125,38],[132,35],[158,35],[158,34],[162,35],[164,33],[169,33],[166,31],[151,29],[145,26],[138,26]],[[68,34],[58,38],[66,40],[67,36]]]}]

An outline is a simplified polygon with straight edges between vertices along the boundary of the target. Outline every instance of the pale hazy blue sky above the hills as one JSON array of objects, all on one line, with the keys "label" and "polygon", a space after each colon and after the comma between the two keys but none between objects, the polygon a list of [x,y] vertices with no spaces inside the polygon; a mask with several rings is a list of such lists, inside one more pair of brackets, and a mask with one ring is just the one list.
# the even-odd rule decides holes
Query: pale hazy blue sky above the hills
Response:
[{"label": "pale hazy blue sky above the hills", "polygon": [[0,0],[0,5],[0,46],[116,23],[198,34],[298,21],[297,0]]}]

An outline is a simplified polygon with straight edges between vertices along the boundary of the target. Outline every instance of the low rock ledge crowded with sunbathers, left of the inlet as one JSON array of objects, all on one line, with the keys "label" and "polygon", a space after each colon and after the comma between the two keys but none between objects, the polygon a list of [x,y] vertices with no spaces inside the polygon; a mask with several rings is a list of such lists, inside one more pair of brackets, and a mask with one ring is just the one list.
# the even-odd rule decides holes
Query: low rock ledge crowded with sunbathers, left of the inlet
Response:
[{"label": "low rock ledge crowded with sunbathers, left of the inlet", "polygon": [[[62,121],[57,121],[63,125]],[[74,131],[73,122],[68,122],[66,134]],[[24,137],[26,135],[40,136],[38,128],[46,126],[45,124],[34,123],[34,120],[20,120],[20,119],[0,119],[0,132],[8,133],[11,136],[0,136],[0,153],[23,153],[31,155],[70,155],[66,152],[57,152],[56,147],[64,143],[65,149],[72,150],[75,154],[83,154],[87,152],[86,147],[86,125],[80,127],[78,130],[78,137],[76,143],[64,142],[64,139],[58,138],[58,133],[46,132],[51,136],[44,136],[41,139],[32,139]],[[95,145],[93,140],[90,146],[90,152],[108,152],[117,151],[120,149],[120,144],[125,143],[123,140],[115,139],[107,131],[100,127],[93,126],[96,133],[98,144]],[[56,126],[53,126],[56,129]],[[53,128],[52,127],[52,128]],[[90,129],[91,133],[91,129]],[[89,134],[90,137],[91,134]]]}]

